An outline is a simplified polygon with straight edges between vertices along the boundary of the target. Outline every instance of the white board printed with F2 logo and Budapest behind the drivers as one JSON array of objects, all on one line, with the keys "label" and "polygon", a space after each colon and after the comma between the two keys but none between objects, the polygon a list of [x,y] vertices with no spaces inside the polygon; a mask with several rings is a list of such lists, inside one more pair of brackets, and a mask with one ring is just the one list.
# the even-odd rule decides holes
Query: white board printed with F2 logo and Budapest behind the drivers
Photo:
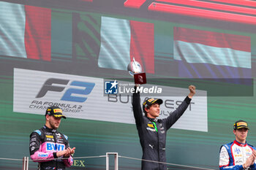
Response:
[{"label": "white board printed with F2 logo and Budapest behind the drivers", "polygon": [[[104,85],[101,78],[14,69],[13,111],[45,115],[47,107],[57,105],[67,117],[135,124],[131,96],[104,96]],[[160,85],[159,88],[179,94],[176,97],[161,96],[164,103],[159,118],[165,118],[181,104],[189,90]],[[193,97],[184,115],[172,128],[208,131],[207,93],[202,90],[197,93],[200,96]],[[151,94],[148,97],[152,97]],[[141,104],[144,98],[146,96],[141,96]]]}]

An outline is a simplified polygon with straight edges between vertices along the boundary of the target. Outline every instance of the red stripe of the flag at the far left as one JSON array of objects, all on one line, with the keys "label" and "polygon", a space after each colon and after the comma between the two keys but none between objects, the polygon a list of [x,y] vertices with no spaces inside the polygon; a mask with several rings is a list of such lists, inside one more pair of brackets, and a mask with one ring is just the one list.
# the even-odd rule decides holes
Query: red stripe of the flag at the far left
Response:
[{"label": "red stripe of the flag at the far left", "polygon": [[51,9],[25,5],[27,58],[50,61]]}]

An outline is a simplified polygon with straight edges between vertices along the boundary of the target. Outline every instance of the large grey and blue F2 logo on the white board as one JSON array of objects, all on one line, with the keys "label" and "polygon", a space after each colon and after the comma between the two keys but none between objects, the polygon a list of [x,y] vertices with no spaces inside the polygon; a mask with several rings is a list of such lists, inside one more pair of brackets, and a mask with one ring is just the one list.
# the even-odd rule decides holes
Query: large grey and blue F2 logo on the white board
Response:
[{"label": "large grey and blue F2 logo on the white board", "polygon": [[[70,80],[64,80],[64,79],[55,79],[50,78],[45,81],[45,84],[42,85],[41,90],[39,90],[39,93],[37,94],[36,98],[42,98],[45,96],[45,94],[48,91],[56,91],[61,92],[65,89],[65,87],[61,87],[59,85],[67,85]],[[58,85],[53,85],[58,84]],[[78,96],[72,96],[72,94],[79,94],[79,95],[89,95],[91,93],[92,89],[95,86],[94,82],[80,82],[80,81],[72,81],[70,85],[77,86],[77,87],[83,87],[84,89],[78,89],[78,88],[69,88],[66,90],[64,95],[62,96],[62,101],[75,101],[75,102],[84,102],[86,101],[87,97],[78,97]]]}]

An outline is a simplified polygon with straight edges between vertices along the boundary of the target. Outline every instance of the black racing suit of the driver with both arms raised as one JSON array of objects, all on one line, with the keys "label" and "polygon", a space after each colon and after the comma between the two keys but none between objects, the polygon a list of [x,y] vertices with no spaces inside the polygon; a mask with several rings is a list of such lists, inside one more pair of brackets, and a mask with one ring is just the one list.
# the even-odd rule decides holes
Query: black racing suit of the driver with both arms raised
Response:
[{"label": "black racing suit of the driver with both arms raised", "polygon": [[[136,88],[135,88],[136,89]],[[136,91],[136,90],[135,90]],[[143,159],[166,162],[166,131],[178,120],[189,106],[191,98],[187,96],[179,107],[165,119],[152,119],[143,115],[140,106],[140,93],[133,93],[132,107],[143,150]],[[157,125],[157,131],[154,123]],[[142,161],[142,170],[165,170],[166,164]]]}]

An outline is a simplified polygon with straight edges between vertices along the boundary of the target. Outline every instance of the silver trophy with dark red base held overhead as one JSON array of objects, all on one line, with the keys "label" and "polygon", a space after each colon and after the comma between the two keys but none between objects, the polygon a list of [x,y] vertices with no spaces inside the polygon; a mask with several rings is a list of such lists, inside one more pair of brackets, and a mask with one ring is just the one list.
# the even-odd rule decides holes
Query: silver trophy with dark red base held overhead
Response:
[{"label": "silver trophy with dark red base held overhead", "polygon": [[138,61],[135,61],[135,58],[128,64],[127,70],[134,77],[135,84],[146,84],[146,73],[143,72],[142,66]]}]

